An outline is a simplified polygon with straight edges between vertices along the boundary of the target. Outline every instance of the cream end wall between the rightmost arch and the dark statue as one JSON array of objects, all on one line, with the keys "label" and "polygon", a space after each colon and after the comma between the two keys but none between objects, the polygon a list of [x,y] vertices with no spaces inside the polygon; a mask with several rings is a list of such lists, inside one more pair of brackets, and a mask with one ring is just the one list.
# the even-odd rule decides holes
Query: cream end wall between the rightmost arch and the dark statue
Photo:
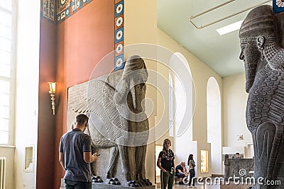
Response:
[{"label": "cream end wall between the rightmost arch and the dark statue", "polygon": [[[252,144],[251,132],[246,127],[247,98],[245,74],[223,79],[224,147],[246,147],[247,144]],[[244,140],[238,140],[238,135],[241,134]]]}]

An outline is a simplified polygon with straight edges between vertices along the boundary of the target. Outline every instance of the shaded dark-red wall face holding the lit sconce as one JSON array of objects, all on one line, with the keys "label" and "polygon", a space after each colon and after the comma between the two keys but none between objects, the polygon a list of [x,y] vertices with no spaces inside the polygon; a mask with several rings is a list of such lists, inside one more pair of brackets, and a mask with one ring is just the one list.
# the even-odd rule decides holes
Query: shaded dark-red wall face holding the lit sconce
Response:
[{"label": "shaded dark-red wall face holding the lit sconce", "polygon": [[51,109],[48,81],[56,81],[56,25],[40,18],[38,91],[38,154],[36,188],[53,188],[56,116]]}]

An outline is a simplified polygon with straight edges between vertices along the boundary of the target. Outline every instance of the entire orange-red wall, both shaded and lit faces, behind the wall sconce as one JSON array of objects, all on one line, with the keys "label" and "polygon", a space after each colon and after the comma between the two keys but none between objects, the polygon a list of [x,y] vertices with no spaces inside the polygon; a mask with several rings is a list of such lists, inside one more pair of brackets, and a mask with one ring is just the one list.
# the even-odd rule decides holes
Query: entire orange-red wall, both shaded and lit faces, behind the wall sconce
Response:
[{"label": "entire orange-red wall, both shaded and lit faces, behind the wall sconce", "polygon": [[[56,17],[55,17],[56,18]],[[60,187],[61,135],[67,130],[67,88],[114,69],[114,0],[94,0],[56,25],[40,18],[40,81],[36,188]],[[56,115],[52,115],[48,81],[57,81]]]}]

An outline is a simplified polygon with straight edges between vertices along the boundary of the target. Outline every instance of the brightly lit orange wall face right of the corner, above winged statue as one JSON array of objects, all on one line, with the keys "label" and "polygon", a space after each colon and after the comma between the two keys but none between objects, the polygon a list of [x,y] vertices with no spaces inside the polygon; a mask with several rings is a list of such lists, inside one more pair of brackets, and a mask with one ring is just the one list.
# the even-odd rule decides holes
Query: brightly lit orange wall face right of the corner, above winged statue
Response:
[{"label": "brightly lit orange wall face right of the corner, above winged statue", "polygon": [[54,188],[60,186],[64,171],[58,162],[60,137],[67,131],[67,88],[107,74],[114,69],[114,0],[94,0],[58,25],[57,81],[60,103],[56,120]]}]

